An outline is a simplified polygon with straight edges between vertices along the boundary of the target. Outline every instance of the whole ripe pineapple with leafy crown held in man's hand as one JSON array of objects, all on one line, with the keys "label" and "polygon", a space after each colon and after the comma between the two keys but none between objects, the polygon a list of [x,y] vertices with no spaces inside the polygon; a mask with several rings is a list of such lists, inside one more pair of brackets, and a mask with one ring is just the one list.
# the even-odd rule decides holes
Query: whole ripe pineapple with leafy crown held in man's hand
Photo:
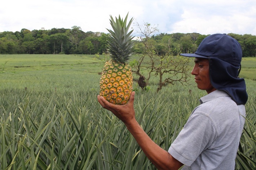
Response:
[{"label": "whole ripe pineapple with leafy crown held in man's hand", "polygon": [[111,59],[103,67],[100,79],[100,96],[116,105],[124,105],[129,101],[132,93],[132,69],[127,64],[128,59],[133,54],[132,31],[128,29],[133,18],[127,23],[128,14],[125,19],[115,18],[110,15],[110,24],[114,31],[110,32],[108,54]]}]

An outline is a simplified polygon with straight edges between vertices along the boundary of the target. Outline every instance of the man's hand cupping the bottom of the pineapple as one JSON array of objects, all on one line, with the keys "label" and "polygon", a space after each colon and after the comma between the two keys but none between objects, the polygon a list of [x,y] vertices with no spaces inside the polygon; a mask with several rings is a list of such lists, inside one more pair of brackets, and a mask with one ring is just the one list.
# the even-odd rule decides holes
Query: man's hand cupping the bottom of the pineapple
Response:
[{"label": "man's hand cupping the bottom of the pineapple", "polygon": [[125,125],[128,125],[135,119],[135,111],[133,108],[134,94],[135,92],[131,93],[129,102],[125,105],[114,105],[106,101],[105,98],[100,95],[97,96],[97,99],[104,109],[110,110],[116,117],[122,120]]}]

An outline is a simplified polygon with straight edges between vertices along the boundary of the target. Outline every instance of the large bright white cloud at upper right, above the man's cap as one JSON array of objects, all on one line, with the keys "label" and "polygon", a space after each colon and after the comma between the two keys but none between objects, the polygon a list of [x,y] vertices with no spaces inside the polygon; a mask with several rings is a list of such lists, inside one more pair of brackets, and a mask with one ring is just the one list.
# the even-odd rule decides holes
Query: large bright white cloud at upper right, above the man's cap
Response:
[{"label": "large bright white cloud at upper right, above the man's cap", "polygon": [[[222,5],[208,3],[202,6],[185,6],[182,19],[176,22],[169,32],[201,34],[212,33],[251,33],[256,35],[256,10],[255,6],[247,4],[239,6],[241,1],[225,1]],[[231,4],[229,4],[231,3]],[[202,5],[202,4],[201,4]],[[207,8],[211,6],[211,8]]]}]

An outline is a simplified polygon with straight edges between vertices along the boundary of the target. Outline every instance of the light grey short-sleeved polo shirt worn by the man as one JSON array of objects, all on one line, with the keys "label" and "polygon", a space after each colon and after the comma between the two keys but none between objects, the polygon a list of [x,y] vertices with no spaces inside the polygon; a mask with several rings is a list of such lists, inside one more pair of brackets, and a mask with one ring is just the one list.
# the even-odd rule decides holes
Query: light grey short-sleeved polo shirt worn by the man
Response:
[{"label": "light grey short-sleeved polo shirt worn by the man", "polygon": [[234,170],[244,105],[219,90],[202,97],[200,103],[168,152],[185,165],[182,170]]}]

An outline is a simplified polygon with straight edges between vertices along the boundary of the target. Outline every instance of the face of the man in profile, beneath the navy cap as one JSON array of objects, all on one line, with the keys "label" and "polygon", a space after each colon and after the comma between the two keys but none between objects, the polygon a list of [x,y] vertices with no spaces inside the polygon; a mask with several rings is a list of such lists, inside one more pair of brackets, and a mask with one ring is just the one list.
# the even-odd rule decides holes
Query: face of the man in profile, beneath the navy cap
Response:
[{"label": "face of the man in profile, beneath the navy cap", "polygon": [[199,89],[206,90],[208,94],[216,90],[210,81],[208,59],[195,58],[195,66],[191,74],[195,75],[195,82]]}]

